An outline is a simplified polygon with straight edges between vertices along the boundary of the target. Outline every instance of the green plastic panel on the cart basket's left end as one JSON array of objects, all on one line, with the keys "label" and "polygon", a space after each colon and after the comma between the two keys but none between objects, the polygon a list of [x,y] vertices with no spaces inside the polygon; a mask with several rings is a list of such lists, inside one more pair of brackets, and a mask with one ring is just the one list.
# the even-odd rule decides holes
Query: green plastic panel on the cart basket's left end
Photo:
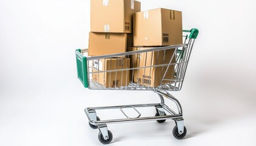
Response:
[{"label": "green plastic panel on the cart basket's left end", "polygon": [[88,88],[87,57],[81,54],[81,49],[76,49],[77,77]]}]

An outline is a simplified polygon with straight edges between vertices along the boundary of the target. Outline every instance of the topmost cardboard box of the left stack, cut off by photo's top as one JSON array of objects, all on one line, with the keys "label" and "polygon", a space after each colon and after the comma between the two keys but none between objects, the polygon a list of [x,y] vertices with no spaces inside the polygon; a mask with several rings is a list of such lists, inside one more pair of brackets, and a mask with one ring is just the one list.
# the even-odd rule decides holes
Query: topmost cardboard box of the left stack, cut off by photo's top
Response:
[{"label": "topmost cardboard box of the left stack, cut off by photo's top", "polygon": [[132,33],[132,15],[140,12],[134,0],[91,0],[91,32]]}]

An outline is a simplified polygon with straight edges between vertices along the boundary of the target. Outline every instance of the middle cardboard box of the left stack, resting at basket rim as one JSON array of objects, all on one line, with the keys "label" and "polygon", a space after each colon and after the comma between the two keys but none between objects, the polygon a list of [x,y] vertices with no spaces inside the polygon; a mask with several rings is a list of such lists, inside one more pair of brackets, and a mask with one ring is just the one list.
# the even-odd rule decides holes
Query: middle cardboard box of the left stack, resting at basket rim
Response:
[{"label": "middle cardboard box of the left stack, resting at basket rim", "polygon": [[89,33],[89,56],[117,54],[126,52],[132,46],[133,35],[126,33]]}]

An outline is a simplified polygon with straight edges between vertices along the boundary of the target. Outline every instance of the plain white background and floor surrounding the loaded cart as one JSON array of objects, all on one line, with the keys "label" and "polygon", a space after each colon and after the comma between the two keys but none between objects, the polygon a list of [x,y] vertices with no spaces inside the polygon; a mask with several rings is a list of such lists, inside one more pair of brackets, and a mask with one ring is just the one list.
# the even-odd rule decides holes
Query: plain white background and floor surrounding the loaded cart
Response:
[{"label": "plain white background and floor surrounding the loaded cart", "polygon": [[[172,136],[172,120],[124,123],[108,125],[110,145],[256,145],[255,2],[141,0],[141,10],[158,7],[182,11],[183,29],[199,29],[173,93],[187,136]],[[87,48],[89,31],[88,0],[0,1],[0,145],[101,145],[85,107],[159,102],[153,92],[82,86],[74,50]]]}]

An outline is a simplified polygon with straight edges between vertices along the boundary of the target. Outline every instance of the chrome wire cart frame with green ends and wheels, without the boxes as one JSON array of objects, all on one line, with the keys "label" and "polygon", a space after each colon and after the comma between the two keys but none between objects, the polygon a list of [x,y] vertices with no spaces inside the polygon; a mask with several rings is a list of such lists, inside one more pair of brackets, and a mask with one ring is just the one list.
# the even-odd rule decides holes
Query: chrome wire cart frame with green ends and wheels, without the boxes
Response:
[{"label": "chrome wire cart frame with green ends and wheels, without the boxes", "polygon": [[[198,30],[197,29],[191,29],[191,30],[183,30],[183,32],[190,33],[190,35],[185,35],[185,41],[183,44],[179,45],[174,45],[174,46],[166,46],[166,47],[155,47],[152,49],[148,50],[137,50],[137,51],[131,51],[131,52],[125,52],[121,54],[113,54],[113,55],[102,55],[102,56],[97,56],[97,57],[84,57],[82,54],[83,52],[87,52],[87,50],[76,50],[76,58],[77,58],[77,76],[80,79],[80,81],[84,84],[86,88],[90,89],[124,89],[124,90],[151,90],[154,91],[158,96],[160,97],[161,102],[160,103],[148,103],[148,104],[140,104],[140,105],[119,105],[119,106],[103,106],[103,107],[91,107],[91,108],[85,108],[85,114],[88,117],[89,120],[89,125],[91,128],[99,128],[99,141],[102,142],[102,144],[108,144],[109,142],[112,141],[113,135],[112,133],[107,129],[107,124],[110,123],[126,123],[126,122],[139,122],[139,121],[149,121],[149,120],[157,120],[158,122],[165,122],[167,119],[172,119],[176,122],[176,127],[174,127],[174,130],[172,133],[174,134],[174,137],[177,139],[182,139],[185,134],[187,133],[187,130],[184,126],[184,120],[182,116],[182,106],[179,103],[179,100],[177,100],[174,96],[172,96],[168,91],[179,91],[182,88],[182,83],[185,77],[185,73],[187,71],[187,65],[188,61],[190,60],[190,54],[191,50],[193,48],[194,40],[197,37]],[[186,43],[188,40],[188,43]],[[183,49],[187,50],[187,52],[183,52],[183,49],[180,50],[179,47],[182,47]],[[182,56],[184,55],[185,57],[182,58],[182,60],[179,63],[171,63],[169,61],[169,64],[165,64],[167,66],[166,72],[168,71],[169,66],[178,64],[182,67],[177,67],[177,68],[182,68],[182,71],[180,71],[179,74],[181,74],[180,78],[181,80],[172,80],[170,84],[164,84],[163,81],[165,80],[165,74],[163,75],[163,79],[161,82],[161,85],[158,86],[157,88],[152,88],[149,86],[136,86],[134,85],[127,85],[125,88],[118,88],[115,86],[115,88],[101,88],[102,86],[93,86],[92,81],[90,80],[90,70],[89,66],[87,65],[88,61],[90,60],[99,60],[100,58],[111,58],[111,57],[116,57],[116,56],[123,56],[123,55],[132,55],[132,54],[139,54],[143,53],[146,51],[155,51],[155,50],[165,50],[165,49],[175,49],[176,54],[178,53],[179,55]],[[172,55],[172,59],[174,58],[174,55]],[[155,66],[149,66],[149,67],[155,67]],[[119,70],[118,70],[119,71]],[[124,71],[124,69],[122,69]],[[100,71],[98,70],[98,73]],[[122,73],[123,75],[123,73]],[[178,78],[178,77],[177,77]],[[174,110],[169,108],[165,104],[166,99],[171,100],[174,102],[177,106],[178,113],[176,113]],[[157,110],[156,116],[151,116],[151,117],[140,117],[141,113],[137,110],[137,108],[143,108],[143,107],[155,107]],[[137,117],[129,117],[127,116],[126,113],[124,113],[123,109],[124,108],[133,108],[137,113]],[[101,109],[120,109],[120,111],[126,116],[125,119],[111,119],[111,120],[99,120],[96,114],[96,110],[101,110]],[[166,112],[168,115],[166,115]]]}]

